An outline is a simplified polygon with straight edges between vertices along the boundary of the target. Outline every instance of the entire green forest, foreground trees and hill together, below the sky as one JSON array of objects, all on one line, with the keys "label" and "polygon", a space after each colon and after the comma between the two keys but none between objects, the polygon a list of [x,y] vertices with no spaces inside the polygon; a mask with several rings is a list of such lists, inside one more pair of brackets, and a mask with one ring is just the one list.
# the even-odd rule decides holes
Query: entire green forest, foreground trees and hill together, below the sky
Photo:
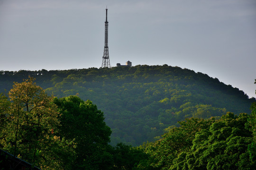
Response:
[{"label": "entire green forest, foreground trees and hill together, below the sky", "polygon": [[[0,93],[0,149],[10,153],[0,155],[0,169],[17,167],[13,155],[31,168],[51,170],[256,167],[255,98],[207,75],[166,65],[121,68],[125,74],[92,69],[91,78],[81,70],[63,78],[50,75],[50,80],[34,73],[39,83],[49,85],[46,91],[24,74],[28,79]],[[8,83],[9,76],[3,72],[1,81]],[[99,100],[112,130],[103,112],[79,96]],[[138,145],[140,140],[145,143],[137,147],[115,144]]]}]

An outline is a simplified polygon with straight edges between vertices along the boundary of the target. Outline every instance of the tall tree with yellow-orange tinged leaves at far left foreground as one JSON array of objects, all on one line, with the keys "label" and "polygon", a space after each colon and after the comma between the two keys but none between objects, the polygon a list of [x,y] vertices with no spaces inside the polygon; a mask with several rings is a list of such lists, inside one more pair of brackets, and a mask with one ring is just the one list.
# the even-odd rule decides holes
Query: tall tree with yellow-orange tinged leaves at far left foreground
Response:
[{"label": "tall tree with yellow-orange tinged leaves at far left foreground", "polygon": [[[63,160],[72,157],[73,144],[55,136],[59,125],[56,105],[53,97],[34,80],[29,77],[22,83],[16,82],[9,91],[11,103],[5,114],[6,136],[1,139],[1,145],[3,150],[32,165],[64,169]],[[63,154],[58,154],[58,150],[63,150]]]}]

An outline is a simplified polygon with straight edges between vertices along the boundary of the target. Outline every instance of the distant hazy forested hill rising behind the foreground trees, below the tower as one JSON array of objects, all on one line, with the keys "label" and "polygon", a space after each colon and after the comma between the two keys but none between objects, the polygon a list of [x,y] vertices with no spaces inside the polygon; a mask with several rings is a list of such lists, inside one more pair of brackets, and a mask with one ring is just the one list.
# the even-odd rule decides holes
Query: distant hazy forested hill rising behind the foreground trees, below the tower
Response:
[{"label": "distant hazy forested hill rising behind the foreground trees, below the tower", "polygon": [[112,144],[152,141],[185,118],[250,113],[256,101],[217,78],[168,65],[0,71],[0,92],[8,92],[14,81],[28,76],[48,94],[77,95],[96,104],[112,129]]}]

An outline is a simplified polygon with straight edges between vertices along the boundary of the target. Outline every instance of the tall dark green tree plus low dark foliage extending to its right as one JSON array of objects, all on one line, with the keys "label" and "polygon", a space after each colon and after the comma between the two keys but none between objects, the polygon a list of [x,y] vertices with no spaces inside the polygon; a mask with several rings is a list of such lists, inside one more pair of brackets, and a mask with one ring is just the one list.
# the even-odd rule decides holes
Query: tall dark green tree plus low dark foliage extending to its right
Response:
[{"label": "tall dark green tree plus low dark foliage extending to its right", "polygon": [[146,153],[125,144],[110,146],[110,127],[104,115],[91,101],[77,96],[55,98],[61,113],[58,135],[76,143],[73,170],[132,170]]}]

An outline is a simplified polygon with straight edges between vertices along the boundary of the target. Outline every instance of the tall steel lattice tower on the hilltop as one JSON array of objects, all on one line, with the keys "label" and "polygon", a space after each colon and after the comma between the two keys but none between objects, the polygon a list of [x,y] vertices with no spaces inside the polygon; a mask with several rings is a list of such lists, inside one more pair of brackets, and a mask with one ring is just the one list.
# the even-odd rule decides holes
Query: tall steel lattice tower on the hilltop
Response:
[{"label": "tall steel lattice tower on the hilltop", "polygon": [[108,39],[109,39],[108,29],[109,29],[108,8],[106,8],[105,46],[104,46],[104,53],[103,53],[103,57],[102,57],[101,68],[111,68],[111,66],[110,66],[110,56],[109,56],[109,45],[108,45]]}]

